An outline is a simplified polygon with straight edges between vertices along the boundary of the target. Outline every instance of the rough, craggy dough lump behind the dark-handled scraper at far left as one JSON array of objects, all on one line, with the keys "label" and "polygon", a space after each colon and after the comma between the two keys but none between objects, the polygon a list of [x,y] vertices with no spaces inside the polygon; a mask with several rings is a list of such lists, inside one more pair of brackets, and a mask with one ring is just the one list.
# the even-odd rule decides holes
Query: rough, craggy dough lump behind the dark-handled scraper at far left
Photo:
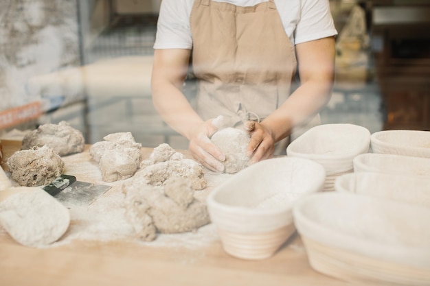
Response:
[{"label": "rough, craggy dough lump behind the dark-handled scraper at far left", "polygon": [[65,163],[51,147],[16,151],[7,161],[12,178],[20,186],[45,186],[64,173]]}]

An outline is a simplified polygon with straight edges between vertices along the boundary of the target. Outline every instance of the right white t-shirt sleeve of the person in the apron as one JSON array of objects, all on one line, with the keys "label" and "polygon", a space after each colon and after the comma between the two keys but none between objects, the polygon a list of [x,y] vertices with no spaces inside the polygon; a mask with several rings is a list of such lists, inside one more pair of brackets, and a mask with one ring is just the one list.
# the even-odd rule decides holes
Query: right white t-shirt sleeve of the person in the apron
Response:
[{"label": "right white t-shirt sleeve of the person in the apron", "polygon": [[328,0],[302,0],[295,44],[337,35]]}]

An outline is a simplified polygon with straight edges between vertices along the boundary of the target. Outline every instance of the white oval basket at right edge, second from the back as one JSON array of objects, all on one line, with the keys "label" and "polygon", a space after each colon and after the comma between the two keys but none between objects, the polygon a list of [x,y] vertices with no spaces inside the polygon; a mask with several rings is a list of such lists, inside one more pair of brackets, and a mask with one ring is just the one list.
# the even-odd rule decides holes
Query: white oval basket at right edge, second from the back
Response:
[{"label": "white oval basket at right edge, second from the back", "polygon": [[370,171],[430,178],[430,160],[412,156],[367,153],[352,160],[354,171]]}]

